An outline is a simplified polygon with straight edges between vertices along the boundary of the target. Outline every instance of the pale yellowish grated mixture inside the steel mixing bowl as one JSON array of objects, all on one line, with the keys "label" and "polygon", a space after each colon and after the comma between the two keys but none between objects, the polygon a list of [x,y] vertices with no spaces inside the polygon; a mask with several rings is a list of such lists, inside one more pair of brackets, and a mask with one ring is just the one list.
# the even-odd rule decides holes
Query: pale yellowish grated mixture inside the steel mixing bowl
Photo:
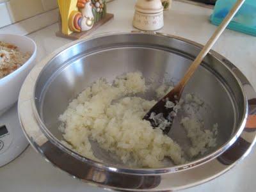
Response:
[{"label": "pale yellowish grated mixture inside the steel mixing bowl", "polygon": [[[65,143],[79,154],[99,161],[90,144],[90,140],[97,141],[101,148],[116,154],[131,167],[161,168],[164,157],[172,159],[175,164],[186,163],[182,148],[163,134],[161,127],[152,129],[150,122],[142,120],[156,100],[131,95],[145,93],[146,90],[145,79],[140,72],[117,77],[112,85],[105,79],[99,79],[72,100],[60,116],[63,122],[60,130]],[[159,95],[163,96],[164,90],[168,91],[168,88],[159,88]],[[173,104],[167,104],[170,105]],[[193,147],[197,147],[196,140],[194,142],[193,135],[189,133],[188,120],[184,119],[182,125],[191,136]],[[204,148],[200,145],[201,148],[191,152],[193,155],[214,144],[214,134],[205,136],[207,138],[204,135],[202,138],[211,142],[203,143]]]}]

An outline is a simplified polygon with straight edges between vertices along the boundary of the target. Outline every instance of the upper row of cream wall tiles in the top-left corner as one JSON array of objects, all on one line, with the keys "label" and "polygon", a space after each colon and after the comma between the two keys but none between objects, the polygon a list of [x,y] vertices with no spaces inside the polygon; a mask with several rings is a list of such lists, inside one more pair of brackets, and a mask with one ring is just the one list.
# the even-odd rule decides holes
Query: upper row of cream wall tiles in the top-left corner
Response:
[{"label": "upper row of cream wall tiles in the top-left corner", "polygon": [[57,0],[0,0],[0,28],[57,8]]}]

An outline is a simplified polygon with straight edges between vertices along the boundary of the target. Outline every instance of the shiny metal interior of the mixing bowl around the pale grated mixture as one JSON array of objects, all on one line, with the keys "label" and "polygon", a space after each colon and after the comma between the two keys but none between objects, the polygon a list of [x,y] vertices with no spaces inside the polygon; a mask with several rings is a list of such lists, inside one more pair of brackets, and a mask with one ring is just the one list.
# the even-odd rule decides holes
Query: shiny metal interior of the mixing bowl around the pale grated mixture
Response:
[{"label": "shiny metal interior of the mixing bowl around the pale grated mixture", "polygon": [[[153,83],[154,87],[163,82],[175,84],[199,51],[198,46],[181,38],[147,33],[105,35],[72,45],[54,56],[37,78],[33,104],[40,128],[54,145],[70,156],[101,168],[114,167],[120,172],[151,174],[177,172],[205,163],[236,141],[243,131],[247,115],[246,96],[240,81],[211,53],[189,81],[184,94],[195,93],[204,100],[207,108],[200,109],[198,115],[204,119],[205,127],[218,123],[218,145],[191,163],[161,169],[131,169],[124,164],[113,164],[113,159],[106,152],[93,145],[95,156],[104,162],[96,163],[64,147],[58,129],[58,117],[67,109],[68,103],[100,77],[112,81],[125,72],[140,71],[147,83]],[[175,119],[169,135],[186,148],[189,141],[184,138],[179,118]]]}]

